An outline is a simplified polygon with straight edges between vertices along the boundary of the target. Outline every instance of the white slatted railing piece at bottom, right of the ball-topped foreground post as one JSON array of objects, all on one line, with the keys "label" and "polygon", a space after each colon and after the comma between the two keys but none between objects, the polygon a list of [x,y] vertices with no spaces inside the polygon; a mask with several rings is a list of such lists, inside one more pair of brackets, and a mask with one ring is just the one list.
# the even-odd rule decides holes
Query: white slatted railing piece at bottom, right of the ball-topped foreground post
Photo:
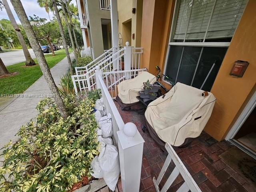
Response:
[{"label": "white slatted railing piece at bottom, right of the ball-topped foreground post", "polygon": [[[184,179],[184,183],[182,184],[182,186],[180,186],[180,188],[177,190],[177,192],[188,192],[189,190],[191,192],[202,192],[169,142],[166,143],[165,148],[168,152],[168,156],[164,162],[164,166],[163,166],[157,180],[156,180],[156,178],[153,178],[153,182],[154,182],[156,191],[157,192],[166,192],[170,188],[170,186],[172,185],[174,180],[177,178],[177,176],[179,174],[181,174],[182,178]],[[164,173],[166,172],[171,161],[174,162],[175,168],[172,171],[172,173],[170,174],[170,176],[168,177],[163,188],[160,190],[160,188],[159,188],[160,181],[162,180]]]}]

